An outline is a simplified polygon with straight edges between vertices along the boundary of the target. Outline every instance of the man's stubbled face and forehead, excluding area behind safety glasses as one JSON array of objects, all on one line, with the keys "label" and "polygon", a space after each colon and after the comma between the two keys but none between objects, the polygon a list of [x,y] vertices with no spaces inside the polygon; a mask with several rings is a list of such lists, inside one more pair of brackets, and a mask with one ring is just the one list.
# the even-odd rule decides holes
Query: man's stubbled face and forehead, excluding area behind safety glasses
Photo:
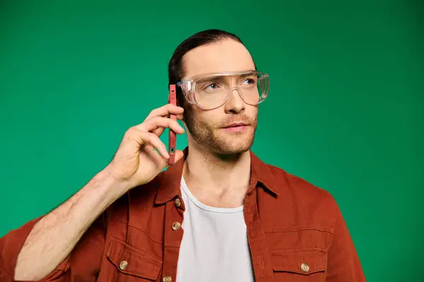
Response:
[{"label": "man's stubbled face and forehead, excluding area behind safety glasses", "polygon": [[[184,79],[204,73],[252,70],[249,51],[233,39],[197,47],[184,56]],[[217,109],[205,110],[187,103],[184,123],[189,142],[218,154],[246,152],[253,144],[257,113],[257,106],[245,104],[237,91]],[[245,125],[230,127],[235,123]]]}]

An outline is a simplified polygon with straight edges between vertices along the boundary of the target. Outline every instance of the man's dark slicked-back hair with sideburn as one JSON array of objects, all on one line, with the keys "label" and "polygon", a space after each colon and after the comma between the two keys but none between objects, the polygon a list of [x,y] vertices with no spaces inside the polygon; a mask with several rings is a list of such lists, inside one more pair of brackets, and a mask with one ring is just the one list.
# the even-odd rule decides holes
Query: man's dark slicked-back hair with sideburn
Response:
[{"label": "man's dark slicked-back hair with sideburn", "polygon": [[[224,30],[204,30],[197,32],[179,44],[174,54],[172,54],[168,65],[168,85],[175,84],[182,80],[184,76],[183,58],[188,51],[223,39],[234,39],[243,44],[242,40],[237,37],[237,35]],[[177,102],[180,106],[184,106],[184,97],[180,87],[177,87]]]}]

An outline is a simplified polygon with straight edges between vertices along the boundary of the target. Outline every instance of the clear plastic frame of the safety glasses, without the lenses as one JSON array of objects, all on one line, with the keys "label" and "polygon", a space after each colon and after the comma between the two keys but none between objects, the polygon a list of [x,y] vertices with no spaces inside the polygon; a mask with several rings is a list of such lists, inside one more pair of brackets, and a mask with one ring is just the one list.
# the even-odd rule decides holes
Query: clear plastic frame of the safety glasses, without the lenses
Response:
[{"label": "clear plastic frame of the safety glasses, without the lenses", "polygon": [[[261,75],[264,78],[266,78],[266,86],[265,86],[265,90],[263,92],[263,94],[261,95],[261,97],[264,97],[263,99],[261,99],[261,97],[259,98],[259,102],[256,104],[251,104],[251,103],[247,103],[245,101],[245,99],[243,98],[242,93],[240,93],[240,90],[237,88],[237,92],[240,95],[240,98],[243,100],[243,102],[245,102],[246,104],[249,104],[251,106],[256,106],[257,104],[261,104],[261,102],[264,102],[266,100],[266,98],[268,97],[269,94],[269,75],[267,73],[263,73],[261,71],[232,71],[232,72],[226,72],[226,73],[202,73],[200,75],[194,75],[192,76],[192,78],[187,78],[185,80],[181,80],[179,82],[177,82],[175,85],[177,85],[178,87],[181,88],[182,90],[182,94],[184,94],[184,98],[187,100],[187,102],[189,102],[190,104],[199,106],[199,108],[201,109],[217,109],[220,106],[223,106],[223,104],[225,104],[226,102],[228,102],[228,99],[230,99],[230,91],[227,94],[227,97],[225,98],[225,101],[220,104],[219,106],[214,106],[214,107],[206,107],[206,106],[202,106],[201,104],[196,102],[196,98],[194,97],[193,92],[196,92],[196,80],[198,80],[199,78],[203,78],[206,76],[212,76],[212,75],[245,75],[245,74],[256,74],[256,75]],[[231,89],[234,89],[235,87],[232,87]],[[189,90],[188,90],[189,89]],[[194,90],[194,91],[193,91]]]}]

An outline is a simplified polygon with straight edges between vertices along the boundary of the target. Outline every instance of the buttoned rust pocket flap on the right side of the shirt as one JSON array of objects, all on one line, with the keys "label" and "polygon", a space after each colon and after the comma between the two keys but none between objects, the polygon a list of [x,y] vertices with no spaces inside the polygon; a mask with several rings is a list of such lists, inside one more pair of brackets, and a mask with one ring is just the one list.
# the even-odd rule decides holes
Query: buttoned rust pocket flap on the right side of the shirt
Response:
[{"label": "buttoned rust pocket flap on the right side of the shirt", "polygon": [[326,251],[321,249],[274,250],[274,271],[309,275],[326,270]]}]

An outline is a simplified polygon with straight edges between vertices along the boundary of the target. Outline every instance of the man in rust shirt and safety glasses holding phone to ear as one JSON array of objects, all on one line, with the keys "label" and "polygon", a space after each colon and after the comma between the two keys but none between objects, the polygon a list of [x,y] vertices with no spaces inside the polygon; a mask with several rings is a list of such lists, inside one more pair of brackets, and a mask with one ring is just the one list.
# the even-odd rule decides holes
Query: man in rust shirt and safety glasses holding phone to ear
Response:
[{"label": "man in rust shirt and safety glasses holding phone to ear", "polygon": [[[250,152],[268,76],[206,30],[169,65],[179,106],[130,128],[111,163],[0,240],[0,281],[365,281],[334,199]],[[181,106],[181,107],[180,107]],[[167,169],[165,128],[188,148]]]}]

